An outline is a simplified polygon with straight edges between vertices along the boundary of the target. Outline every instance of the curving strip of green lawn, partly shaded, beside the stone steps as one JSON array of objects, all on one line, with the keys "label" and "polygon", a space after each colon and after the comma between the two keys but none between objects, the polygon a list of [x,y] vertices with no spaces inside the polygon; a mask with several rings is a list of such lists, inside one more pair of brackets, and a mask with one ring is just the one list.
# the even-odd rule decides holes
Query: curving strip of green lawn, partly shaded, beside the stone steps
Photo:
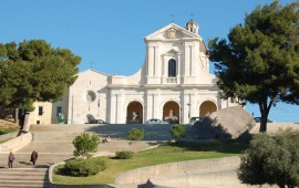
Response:
[{"label": "curving strip of green lawn, partly shaded, beside the stone steps", "polygon": [[70,177],[56,175],[59,168],[54,169],[53,181],[56,184],[112,184],[114,179],[124,171],[135,168],[167,164],[174,161],[194,160],[228,157],[240,154],[248,147],[248,140],[227,140],[213,143],[186,143],[168,146],[159,146],[154,149],[144,150],[134,154],[132,159],[113,159],[111,157],[102,157],[107,163],[107,168],[95,176],[90,177]]}]

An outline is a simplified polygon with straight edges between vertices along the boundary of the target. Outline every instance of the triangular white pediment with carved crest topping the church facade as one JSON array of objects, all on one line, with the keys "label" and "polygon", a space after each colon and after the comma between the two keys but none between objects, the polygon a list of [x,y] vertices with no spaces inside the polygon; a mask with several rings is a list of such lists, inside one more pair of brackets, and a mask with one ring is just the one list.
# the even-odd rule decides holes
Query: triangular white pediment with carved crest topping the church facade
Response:
[{"label": "triangular white pediment with carved crest topping the church facade", "polygon": [[202,39],[198,34],[192,33],[186,29],[178,27],[175,23],[171,23],[154,33],[145,36],[145,41],[151,40],[177,40],[177,39],[185,39],[185,38],[193,38],[193,39]]}]

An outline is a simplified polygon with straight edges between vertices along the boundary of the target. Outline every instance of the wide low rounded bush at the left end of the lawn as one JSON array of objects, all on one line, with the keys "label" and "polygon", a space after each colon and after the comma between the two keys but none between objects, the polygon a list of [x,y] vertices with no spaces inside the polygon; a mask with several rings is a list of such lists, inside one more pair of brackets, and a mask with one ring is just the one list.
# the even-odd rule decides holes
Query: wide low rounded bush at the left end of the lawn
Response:
[{"label": "wide low rounded bush at the left end of the lawn", "polygon": [[71,176],[92,176],[105,170],[106,161],[101,158],[74,158],[65,163],[61,174]]}]

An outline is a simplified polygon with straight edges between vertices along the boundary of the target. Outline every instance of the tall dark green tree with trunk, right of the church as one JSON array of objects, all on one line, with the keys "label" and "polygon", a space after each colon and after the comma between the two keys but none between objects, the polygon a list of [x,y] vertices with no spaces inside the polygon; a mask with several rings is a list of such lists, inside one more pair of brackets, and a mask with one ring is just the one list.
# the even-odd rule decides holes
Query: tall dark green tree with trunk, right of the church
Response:
[{"label": "tall dark green tree with trunk, right of the church", "polygon": [[299,2],[274,1],[246,14],[227,39],[209,41],[220,97],[258,104],[260,132],[277,102],[299,104]]}]

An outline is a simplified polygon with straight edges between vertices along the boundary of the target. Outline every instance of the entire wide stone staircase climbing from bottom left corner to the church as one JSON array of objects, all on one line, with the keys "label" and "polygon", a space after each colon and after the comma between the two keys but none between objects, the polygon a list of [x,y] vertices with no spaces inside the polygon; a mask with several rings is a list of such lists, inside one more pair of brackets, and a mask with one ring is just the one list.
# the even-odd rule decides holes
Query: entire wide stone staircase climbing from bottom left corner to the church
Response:
[{"label": "entire wide stone staircase climbing from bottom left corner to the church", "polygon": [[[31,125],[32,142],[13,152],[16,160],[13,169],[8,169],[8,154],[0,154],[0,188],[1,187],[49,187],[48,167],[52,164],[63,161],[73,157],[72,140],[81,133],[87,132],[103,138],[110,135],[112,142],[99,145],[94,155],[110,155],[117,150],[132,150],[126,134],[132,128],[145,130],[144,140],[140,142],[136,150],[154,147],[156,140],[171,139],[169,125],[142,125],[142,124],[107,124],[107,125]],[[32,150],[39,153],[35,167],[32,166],[30,155]]]}]

